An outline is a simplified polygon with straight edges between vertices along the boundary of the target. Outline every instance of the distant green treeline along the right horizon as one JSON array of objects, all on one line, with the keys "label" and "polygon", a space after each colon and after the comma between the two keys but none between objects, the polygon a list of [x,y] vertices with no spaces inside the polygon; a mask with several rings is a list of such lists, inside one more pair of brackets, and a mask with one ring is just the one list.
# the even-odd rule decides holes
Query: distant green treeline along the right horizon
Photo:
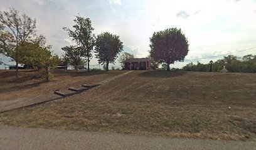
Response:
[{"label": "distant green treeline along the right horizon", "polygon": [[[219,72],[223,69],[223,66],[226,66],[226,69],[231,73],[256,73],[256,55],[253,56],[252,54],[249,54],[242,58],[233,55],[225,56],[223,59],[219,59],[212,63],[212,71]],[[183,70],[209,72],[210,63],[189,63],[183,67]]]}]

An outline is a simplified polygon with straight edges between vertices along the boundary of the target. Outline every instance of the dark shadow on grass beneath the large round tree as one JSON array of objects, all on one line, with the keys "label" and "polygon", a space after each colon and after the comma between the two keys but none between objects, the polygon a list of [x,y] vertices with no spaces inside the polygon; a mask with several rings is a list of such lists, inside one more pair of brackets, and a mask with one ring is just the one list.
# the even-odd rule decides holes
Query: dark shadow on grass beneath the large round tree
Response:
[{"label": "dark shadow on grass beneath the large round tree", "polygon": [[138,74],[141,77],[154,77],[154,78],[170,78],[175,76],[183,76],[185,71],[146,71]]}]

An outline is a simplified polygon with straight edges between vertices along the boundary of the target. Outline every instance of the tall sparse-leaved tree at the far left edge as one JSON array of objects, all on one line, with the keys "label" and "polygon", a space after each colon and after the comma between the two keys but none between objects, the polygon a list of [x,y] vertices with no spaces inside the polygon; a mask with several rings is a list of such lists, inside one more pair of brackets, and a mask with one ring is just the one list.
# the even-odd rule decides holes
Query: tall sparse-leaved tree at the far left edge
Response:
[{"label": "tall sparse-leaved tree at the far left edge", "polygon": [[0,53],[16,61],[16,78],[18,64],[23,57],[19,54],[19,44],[36,37],[36,19],[20,14],[16,9],[0,11]]}]

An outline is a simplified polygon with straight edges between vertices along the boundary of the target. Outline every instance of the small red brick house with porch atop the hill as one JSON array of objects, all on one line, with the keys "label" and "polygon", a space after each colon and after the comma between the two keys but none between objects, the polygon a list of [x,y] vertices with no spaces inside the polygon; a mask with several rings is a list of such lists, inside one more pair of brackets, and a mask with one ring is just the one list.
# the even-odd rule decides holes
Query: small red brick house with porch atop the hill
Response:
[{"label": "small red brick house with porch atop the hill", "polygon": [[150,66],[149,58],[131,58],[124,61],[125,70],[149,70]]}]

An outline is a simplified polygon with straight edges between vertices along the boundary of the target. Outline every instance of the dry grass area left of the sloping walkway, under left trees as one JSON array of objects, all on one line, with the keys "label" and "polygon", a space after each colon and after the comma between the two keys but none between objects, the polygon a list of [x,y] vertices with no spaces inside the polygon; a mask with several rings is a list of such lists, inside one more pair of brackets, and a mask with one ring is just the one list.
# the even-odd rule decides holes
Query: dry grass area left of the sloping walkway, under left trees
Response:
[{"label": "dry grass area left of the sloping walkway, under left trees", "polygon": [[19,71],[20,78],[16,80],[14,70],[1,70],[0,101],[53,93],[56,89],[79,87],[82,84],[95,84],[121,73],[124,73],[124,71],[55,70],[53,81],[45,82],[41,71],[21,70]]}]

